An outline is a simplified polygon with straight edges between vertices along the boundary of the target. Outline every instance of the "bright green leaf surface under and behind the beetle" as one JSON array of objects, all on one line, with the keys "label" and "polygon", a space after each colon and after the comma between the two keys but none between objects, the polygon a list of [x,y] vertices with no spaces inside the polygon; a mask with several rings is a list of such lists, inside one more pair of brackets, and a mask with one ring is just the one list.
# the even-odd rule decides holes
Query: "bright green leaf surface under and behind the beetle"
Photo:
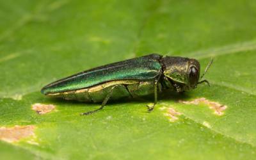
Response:
[{"label": "bright green leaf surface under and behind the beetle", "polygon": [[[0,157],[255,159],[256,1],[18,0],[0,8]],[[40,93],[61,77],[151,52],[196,58],[202,71],[213,57],[211,87],[165,92],[152,113],[149,97],[109,102],[90,116],[79,113],[100,104]],[[208,104],[184,104],[202,98]],[[223,115],[209,102],[227,106]],[[40,115],[36,103],[56,108]],[[4,129],[15,125],[33,131],[6,142]]]}]

